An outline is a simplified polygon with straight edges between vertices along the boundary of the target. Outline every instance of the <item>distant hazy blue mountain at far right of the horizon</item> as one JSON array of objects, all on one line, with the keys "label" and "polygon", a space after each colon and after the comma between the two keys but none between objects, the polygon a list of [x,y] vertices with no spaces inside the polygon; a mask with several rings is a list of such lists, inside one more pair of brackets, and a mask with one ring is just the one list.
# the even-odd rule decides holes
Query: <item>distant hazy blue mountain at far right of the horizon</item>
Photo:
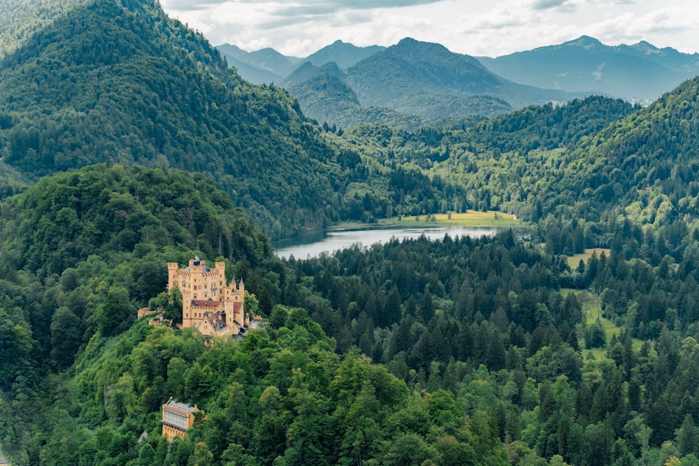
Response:
[{"label": "distant hazy blue mountain at far right of the horizon", "polygon": [[493,73],[522,84],[646,101],[699,74],[699,54],[658,49],[647,42],[612,47],[589,36],[479,59]]}]

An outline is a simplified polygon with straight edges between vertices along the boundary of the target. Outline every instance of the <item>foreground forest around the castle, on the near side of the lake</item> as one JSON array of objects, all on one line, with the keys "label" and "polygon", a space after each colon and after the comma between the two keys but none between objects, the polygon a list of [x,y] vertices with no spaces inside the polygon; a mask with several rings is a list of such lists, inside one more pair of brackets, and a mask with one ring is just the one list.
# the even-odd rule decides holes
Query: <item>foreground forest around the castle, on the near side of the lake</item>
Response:
[{"label": "foreground forest around the castle, on the near side of the lake", "polygon": [[[572,268],[512,231],[282,261],[176,170],[87,167],[1,208],[0,435],[17,464],[697,461],[699,233],[681,222],[624,219],[609,254]],[[134,323],[166,261],[194,254],[244,277],[270,327],[207,346]],[[168,396],[206,412],[172,444]]]}]

